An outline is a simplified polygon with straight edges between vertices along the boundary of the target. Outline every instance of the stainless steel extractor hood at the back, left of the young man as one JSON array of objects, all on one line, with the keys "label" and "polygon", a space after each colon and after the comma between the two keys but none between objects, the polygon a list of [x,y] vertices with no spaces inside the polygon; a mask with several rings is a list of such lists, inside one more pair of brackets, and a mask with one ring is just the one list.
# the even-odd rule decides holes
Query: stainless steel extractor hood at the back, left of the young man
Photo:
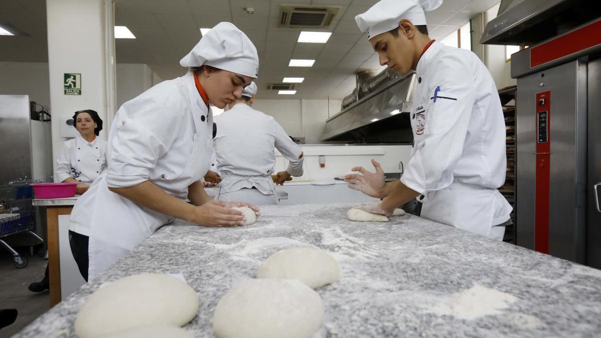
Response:
[{"label": "stainless steel extractor hood at the back, left of the young man", "polygon": [[394,79],[326,120],[322,141],[412,143],[415,73]]}]

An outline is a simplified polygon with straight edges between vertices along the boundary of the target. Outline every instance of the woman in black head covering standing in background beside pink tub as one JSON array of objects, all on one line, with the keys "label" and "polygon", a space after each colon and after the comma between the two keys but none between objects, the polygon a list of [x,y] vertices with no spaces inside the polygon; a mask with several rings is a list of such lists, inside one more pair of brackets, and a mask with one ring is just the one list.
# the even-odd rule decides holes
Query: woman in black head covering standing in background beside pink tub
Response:
[{"label": "woman in black head covering standing in background beside pink tub", "polygon": [[73,126],[79,135],[65,141],[56,158],[54,181],[79,183],[76,192],[81,195],[106,170],[106,141],[97,137],[102,120],[96,111],[76,111]]}]

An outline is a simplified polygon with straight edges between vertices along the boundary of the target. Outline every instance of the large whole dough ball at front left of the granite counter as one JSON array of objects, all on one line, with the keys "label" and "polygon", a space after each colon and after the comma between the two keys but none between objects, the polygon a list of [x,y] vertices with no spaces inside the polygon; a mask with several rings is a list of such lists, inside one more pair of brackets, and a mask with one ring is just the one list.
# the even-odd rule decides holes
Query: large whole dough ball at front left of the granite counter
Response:
[{"label": "large whole dough ball at front left of the granite counter", "polygon": [[180,327],[197,312],[198,295],[184,281],[166,274],[132,275],[88,296],[75,318],[75,333],[95,338],[147,325]]}]

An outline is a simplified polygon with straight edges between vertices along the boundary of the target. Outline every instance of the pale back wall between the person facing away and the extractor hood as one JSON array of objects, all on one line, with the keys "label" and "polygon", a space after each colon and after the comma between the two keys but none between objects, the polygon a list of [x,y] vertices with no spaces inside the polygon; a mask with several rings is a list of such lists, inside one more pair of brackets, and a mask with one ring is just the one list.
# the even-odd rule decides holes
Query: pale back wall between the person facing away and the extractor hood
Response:
[{"label": "pale back wall between the person facing away and the extractor hood", "polygon": [[292,137],[304,137],[305,144],[320,144],[329,116],[340,111],[342,100],[255,100],[252,108],[273,116]]}]

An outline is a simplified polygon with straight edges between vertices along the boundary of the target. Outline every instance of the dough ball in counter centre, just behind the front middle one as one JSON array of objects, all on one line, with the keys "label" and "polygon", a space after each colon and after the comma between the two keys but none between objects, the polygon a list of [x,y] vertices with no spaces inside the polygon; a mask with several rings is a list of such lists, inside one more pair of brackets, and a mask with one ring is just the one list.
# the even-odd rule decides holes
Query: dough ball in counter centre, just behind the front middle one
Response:
[{"label": "dough ball in counter centre, just behind the front middle one", "polygon": [[334,257],[315,248],[289,248],[267,257],[259,266],[257,278],[291,278],[310,287],[334,283],[340,268]]}]

